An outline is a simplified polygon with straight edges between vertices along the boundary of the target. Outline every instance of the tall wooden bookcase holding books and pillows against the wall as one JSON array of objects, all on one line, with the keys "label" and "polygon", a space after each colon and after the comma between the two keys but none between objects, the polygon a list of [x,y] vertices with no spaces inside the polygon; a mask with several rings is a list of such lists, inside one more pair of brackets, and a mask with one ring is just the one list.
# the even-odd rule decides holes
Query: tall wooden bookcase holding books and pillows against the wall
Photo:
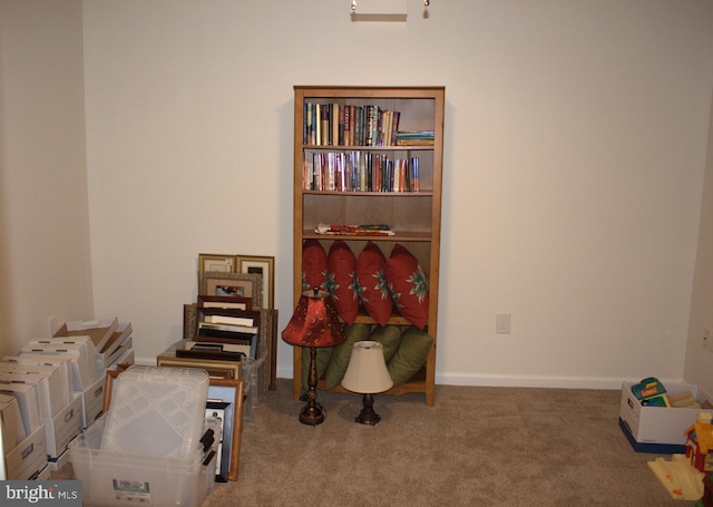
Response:
[{"label": "tall wooden bookcase holding books and pillows against the wall", "polygon": [[[339,121],[335,110],[346,111],[352,123]],[[428,277],[426,331],[433,344],[421,371],[388,393],[423,393],[428,406],[434,402],[443,113],[443,87],[294,87],[294,303],[303,290],[305,240],[320,241],[328,252],[335,240],[344,240],[354,255],[369,241],[378,242],[387,259],[402,243]],[[372,114],[382,115],[381,129],[365,127]],[[395,234],[319,234],[318,224],[387,224]],[[377,325],[364,312],[355,322]],[[389,324],[411,325],[398,313]],[[301,371],[302,350],[295,348],[295,399],[302,393]]]}]

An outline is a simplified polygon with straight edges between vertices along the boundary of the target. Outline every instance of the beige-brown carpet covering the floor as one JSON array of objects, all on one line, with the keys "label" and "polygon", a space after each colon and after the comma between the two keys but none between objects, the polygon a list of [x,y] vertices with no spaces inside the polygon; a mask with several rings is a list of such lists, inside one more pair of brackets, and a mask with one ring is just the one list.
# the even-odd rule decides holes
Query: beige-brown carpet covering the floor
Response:
[{"label": "beige-brown carpet covering the floor", "polygon": [[[438,386],[377,397],[374,427],[353,422],[361,398],[320,392],[326,421],[280,380],[243,427],[238,480],[218,506],[692,506],[670,498],[618,427],[619,391]],[[665,457],[668,459],[670,457]]]}]

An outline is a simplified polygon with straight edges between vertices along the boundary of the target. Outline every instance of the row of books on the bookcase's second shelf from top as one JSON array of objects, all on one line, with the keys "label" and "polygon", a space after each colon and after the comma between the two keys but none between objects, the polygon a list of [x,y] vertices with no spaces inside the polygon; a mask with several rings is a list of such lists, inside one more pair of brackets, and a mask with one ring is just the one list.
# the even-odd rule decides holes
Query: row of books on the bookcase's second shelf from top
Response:
[{"label": "row of books on the bookcase's second shelf from top", "polygon": [[421,191],[419,157],[372,152],[304,152],[302,187],[329,192]]}]

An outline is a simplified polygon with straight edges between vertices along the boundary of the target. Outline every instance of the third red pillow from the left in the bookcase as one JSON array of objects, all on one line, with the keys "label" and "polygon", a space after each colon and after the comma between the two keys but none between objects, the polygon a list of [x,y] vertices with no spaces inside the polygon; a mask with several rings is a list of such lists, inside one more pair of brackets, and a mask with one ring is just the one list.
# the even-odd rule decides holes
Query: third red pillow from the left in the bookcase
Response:
[{"label": "third red pillow from the left in the bookcase", "polygon": [[379,325],[387,325],[393,301],[383,269],[387,257],[375,243],[369,242],[356,257],[359,299],[364,310]]}]

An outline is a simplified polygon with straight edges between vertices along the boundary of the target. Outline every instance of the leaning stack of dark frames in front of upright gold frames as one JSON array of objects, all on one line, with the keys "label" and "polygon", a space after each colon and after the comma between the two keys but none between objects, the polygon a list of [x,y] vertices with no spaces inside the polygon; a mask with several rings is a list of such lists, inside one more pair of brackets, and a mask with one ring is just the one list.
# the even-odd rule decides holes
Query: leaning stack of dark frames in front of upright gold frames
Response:
[{"label": "leaning stack of dark frames in front of upright gold frames", "polygon": [[255,359],[260,340],[260,312],[217,303],[199,302],[196,335],[193,340],[184,341],[183,349],[176,350],[176,357],[227,361]]}]

